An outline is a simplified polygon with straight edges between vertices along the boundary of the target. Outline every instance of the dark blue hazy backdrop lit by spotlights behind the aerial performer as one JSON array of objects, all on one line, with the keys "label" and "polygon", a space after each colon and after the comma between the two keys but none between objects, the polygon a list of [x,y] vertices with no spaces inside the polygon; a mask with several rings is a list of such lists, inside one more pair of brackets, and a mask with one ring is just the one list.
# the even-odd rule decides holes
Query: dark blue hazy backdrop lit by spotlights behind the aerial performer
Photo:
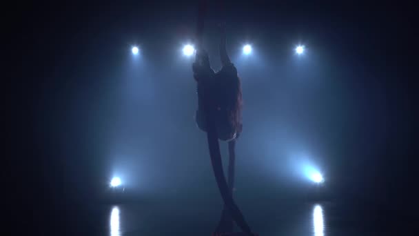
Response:
[{"label": "dark blue hazy backdrop lit by spotlights behind the aerial performer", "polygon": [[[4,78],[11,152],[3,158],[11,161],[3,190],[16,202],[9,213],[19,230],[99,227],[92,203],[113,175],[139,199],[218,195],[205,135],[193,120],[192,59],[181,55],[197,3],[5,9],[12,77]],[[219,3],[208,7],[205,46],[218,68],[216,24],[225,19],[245,99],[236,177],[242,196],[298,198],[309,186],[299,166],[308,162],[325,173],[334,199],[415,213],[413,6],[225,1],[223,12]],[[254,47],[248,58],[245,42]],[[294,55],[298,43],[307,46],[303,57]]]}]

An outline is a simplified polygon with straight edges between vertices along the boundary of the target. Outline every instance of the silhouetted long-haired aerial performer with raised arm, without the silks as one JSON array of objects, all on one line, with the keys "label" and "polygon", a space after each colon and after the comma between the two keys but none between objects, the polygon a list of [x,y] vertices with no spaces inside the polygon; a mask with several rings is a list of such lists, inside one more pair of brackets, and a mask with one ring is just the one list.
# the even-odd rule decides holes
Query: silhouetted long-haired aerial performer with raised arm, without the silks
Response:
[{"label": "silhouetted long-haired aerial performer with raised arm, without the silks", "polygon": [[208,110],[204,110],[204,90],[207,90],[208,98],[212,102],[212,106],[208,109],[214,112],[218,139],[234,143],[242,130],[241,84],[236,67],[227,55],[225,27],[220,25],[219,30],[221,33],[219,50],[223,66],[221,70],[218,72],[212,70],[207,52],[202,49],[197,50],[196,62],[192,65],[194,78],[198,82],[198,110],[195,119],[198,127],[207,132],[205,112]]}]

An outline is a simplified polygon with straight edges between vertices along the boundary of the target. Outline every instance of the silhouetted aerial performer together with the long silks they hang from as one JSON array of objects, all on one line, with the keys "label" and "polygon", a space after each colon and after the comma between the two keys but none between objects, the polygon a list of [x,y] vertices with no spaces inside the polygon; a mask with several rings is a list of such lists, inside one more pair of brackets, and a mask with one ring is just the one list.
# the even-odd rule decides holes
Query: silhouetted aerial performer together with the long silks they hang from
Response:
[{"label": "silhouetted aerial performer together with the long silks they hang from", "polygon": [[[232,198],[235,139],[242,131],[240,80],[234,64],[227,55],[225,27],[223,25],[220,26],[220,57],[223,67],[218,72],[212,70],[207,52],[202,48],[203,14],[205,10],[205,1],[201,1],[198,12],[196,58],[192,65],[192,70],[197,81],[198,94],[196,124],[201,130],[207,132],[214,176],[224,201],[221,221],[216,228],[215,234],[230,233],[232,235],[232,220],[234,219],[234,222],[243,230],[245,235],[253,235]],[[223,173],[218,139],[228,141],[229,143],[228,185]]]}]

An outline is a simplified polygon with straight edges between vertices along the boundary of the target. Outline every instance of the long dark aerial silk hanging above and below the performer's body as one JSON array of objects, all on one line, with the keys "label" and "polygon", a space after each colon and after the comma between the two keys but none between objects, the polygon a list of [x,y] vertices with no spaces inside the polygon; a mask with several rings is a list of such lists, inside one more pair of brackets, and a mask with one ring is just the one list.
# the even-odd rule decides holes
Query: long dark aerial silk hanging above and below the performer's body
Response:
[{"label": "long dark aerial silk hanging above and below the performer's body", "polygon": [[[205,13],[207,11],[207,1],[201,0],[198,7],[198,21],[196,27],[196,46],[197,50],[203,49],[203,28],[204,28],[204,19]],[[205,86],[204,86],[205,88]],[[230,162],[229,165],[229,184],[225,180],[223,172],[223,163],[221,160],[220,146],[218,144],[218,134],[216,131],[216,112],[214,109],[211,109],[214,106],[214,99],[212,98],[210,90],[204,89],[203,93],[204,99],[204,109],[205,109],[205,118],[207,121],[207,142],[208,148],[210,149],[210,157],[212,163],[212,169],[214,171],[214,176],[216,177],[216,182],[218,189],[220,190],[221,197],[223,198],[225,208],[228,210],[229,215],[235,220],[236,224],[243,230],[247,235],[252,235],[241,210],[236,206],[234,199],[232,198],[232,189],[234,186],[234,146],[235,141],[229,142],[229,156]],[[224,210],[225,211],[225,210]]]}]

